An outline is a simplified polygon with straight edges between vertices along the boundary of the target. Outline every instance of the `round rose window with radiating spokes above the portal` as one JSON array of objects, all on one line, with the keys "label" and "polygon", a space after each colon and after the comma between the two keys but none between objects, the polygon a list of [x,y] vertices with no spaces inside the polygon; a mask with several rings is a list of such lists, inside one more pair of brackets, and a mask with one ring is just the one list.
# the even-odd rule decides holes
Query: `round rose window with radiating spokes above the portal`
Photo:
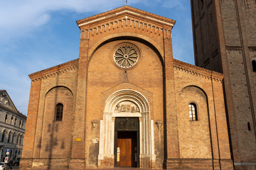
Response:
[{"label": "round rose window with radiating spokes above the portal", "polygon": [[133,67],[137,64],[139,54],[132,45],[122,45],[114,51],[114,62],[122,68]]}]

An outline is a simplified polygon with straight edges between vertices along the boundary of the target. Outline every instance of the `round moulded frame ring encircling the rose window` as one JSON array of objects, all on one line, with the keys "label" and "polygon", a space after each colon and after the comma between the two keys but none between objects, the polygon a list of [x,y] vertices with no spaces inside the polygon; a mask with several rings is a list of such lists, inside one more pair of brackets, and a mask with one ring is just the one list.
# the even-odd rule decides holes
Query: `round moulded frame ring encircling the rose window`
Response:
[{"label": "round moulded frame ring encircling the rose window", "polygon": [[[119,64],[117,64],[117,62],[115,61],[115,52],[117,51],[117,49],[119,47],[122,47],[124,45],[129,45],[131,47],[133,47],[136,51],[137,51],[137,60],[136,60],[136,63],[133,64],[132,66],[129,66],[129,67],[122,67],[120,66]],[[125,56],[124,58],[128,58],[129,56]],[[119,43],[118,45],[114,46],[113,50],[112,50],[112,55],[111,55],[111,58],[112,58],[112,62],[114,63],[114,65],[119,68],[119,69],[124,69],[124,70],[127,70],[127,69],[133,69],[134,67],[137,67],[138,63],[140,62],[140,60],[142,60],[142,55],[141,55],[141,51],[139,50],[139,47],[137,47],[137,45],[134,45],[133,43],[130,43],[130,42],[123,42],[123,43]]]}]

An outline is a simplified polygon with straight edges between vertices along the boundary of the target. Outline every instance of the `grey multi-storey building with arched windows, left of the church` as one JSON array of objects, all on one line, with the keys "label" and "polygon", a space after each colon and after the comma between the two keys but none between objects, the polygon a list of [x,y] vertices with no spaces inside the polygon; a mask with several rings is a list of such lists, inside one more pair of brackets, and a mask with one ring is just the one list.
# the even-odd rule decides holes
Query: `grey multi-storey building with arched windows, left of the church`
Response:
[{"label": "grey multi-storey building with arched windows, left of the church", "polygon": [[25,133],[26,115],[19,113],[7,91],[0,90],[0,161],[4,162],[6,149],[9,160],[20,159]]}]

